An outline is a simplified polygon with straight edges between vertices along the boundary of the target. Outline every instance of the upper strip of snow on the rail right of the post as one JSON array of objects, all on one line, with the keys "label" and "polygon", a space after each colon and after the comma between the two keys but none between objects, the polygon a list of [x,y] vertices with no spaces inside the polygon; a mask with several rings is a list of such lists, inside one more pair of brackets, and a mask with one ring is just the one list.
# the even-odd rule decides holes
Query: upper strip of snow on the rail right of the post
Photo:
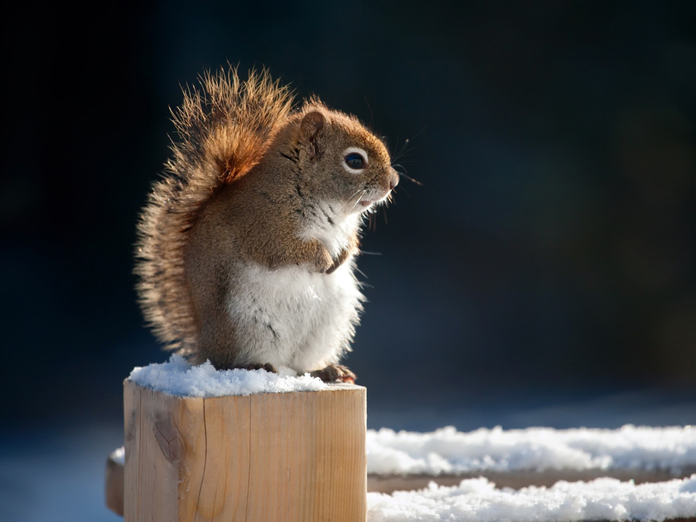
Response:
[{"label": "upper strip of snow on the rail right of the post", "polygon": [[383,475],[612,468],[679,472],[690,466],[696,466],[696,429],[690,426],[367,432],[367,473]]}]

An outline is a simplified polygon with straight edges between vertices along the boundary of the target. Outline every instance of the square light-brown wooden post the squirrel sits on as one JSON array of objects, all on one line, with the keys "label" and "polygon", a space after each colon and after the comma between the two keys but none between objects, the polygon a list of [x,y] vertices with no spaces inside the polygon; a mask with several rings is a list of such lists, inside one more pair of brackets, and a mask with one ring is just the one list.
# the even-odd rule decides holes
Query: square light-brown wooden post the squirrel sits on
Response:
[{"label": "square light-brown wooden post the squirrel sits on", "polygon": [[365,522],[365,391],[204,399],[126,380],[125,522]]}]

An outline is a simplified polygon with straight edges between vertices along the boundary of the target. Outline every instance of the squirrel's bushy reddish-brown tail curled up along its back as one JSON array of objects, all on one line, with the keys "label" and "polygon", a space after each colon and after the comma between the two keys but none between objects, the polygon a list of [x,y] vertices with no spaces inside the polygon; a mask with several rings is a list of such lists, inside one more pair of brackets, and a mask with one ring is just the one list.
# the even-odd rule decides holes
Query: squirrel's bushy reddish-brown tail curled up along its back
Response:
[{"label": "squirrel's bushy reddish-brown tail curled up along its back", "polygon": [[184,280],[184,251],[198,211],[216,188],[258,163],[290,115],[292,94],[266,70],[240,81],[235,68],[207,73],[173,110],[179,141],[152,187],[138,226],[135,273],[143,313],[167,349],[189,354],[196,323]]}]

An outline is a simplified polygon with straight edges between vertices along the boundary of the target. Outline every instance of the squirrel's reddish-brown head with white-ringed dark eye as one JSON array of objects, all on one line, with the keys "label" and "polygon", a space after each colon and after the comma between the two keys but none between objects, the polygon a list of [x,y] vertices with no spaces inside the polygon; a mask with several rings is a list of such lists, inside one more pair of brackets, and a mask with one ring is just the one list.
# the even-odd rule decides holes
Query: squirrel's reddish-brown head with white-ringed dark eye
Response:
[{"label": "squirrel's reddish-brown head with white-ringed dark eye", "polygon": [[354,214],[385,200],[398,184],[384,143],[357,118],[313,103],[291,125],[292,154],[315,198]]}]

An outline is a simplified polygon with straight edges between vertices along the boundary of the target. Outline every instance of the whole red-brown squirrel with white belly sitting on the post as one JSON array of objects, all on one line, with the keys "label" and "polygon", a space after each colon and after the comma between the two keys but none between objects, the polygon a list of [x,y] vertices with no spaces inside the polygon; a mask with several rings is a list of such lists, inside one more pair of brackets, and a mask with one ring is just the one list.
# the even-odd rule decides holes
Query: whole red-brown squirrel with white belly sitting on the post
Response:
[{"label": "whole red-brown squirrel with white belly sitting on the post", "polygon": [[359,232],[399,182],[385,144],[318,97],[294,107],[267,70],[199,83],[139,220],[145,319],[193,364],[354,381]]}]

